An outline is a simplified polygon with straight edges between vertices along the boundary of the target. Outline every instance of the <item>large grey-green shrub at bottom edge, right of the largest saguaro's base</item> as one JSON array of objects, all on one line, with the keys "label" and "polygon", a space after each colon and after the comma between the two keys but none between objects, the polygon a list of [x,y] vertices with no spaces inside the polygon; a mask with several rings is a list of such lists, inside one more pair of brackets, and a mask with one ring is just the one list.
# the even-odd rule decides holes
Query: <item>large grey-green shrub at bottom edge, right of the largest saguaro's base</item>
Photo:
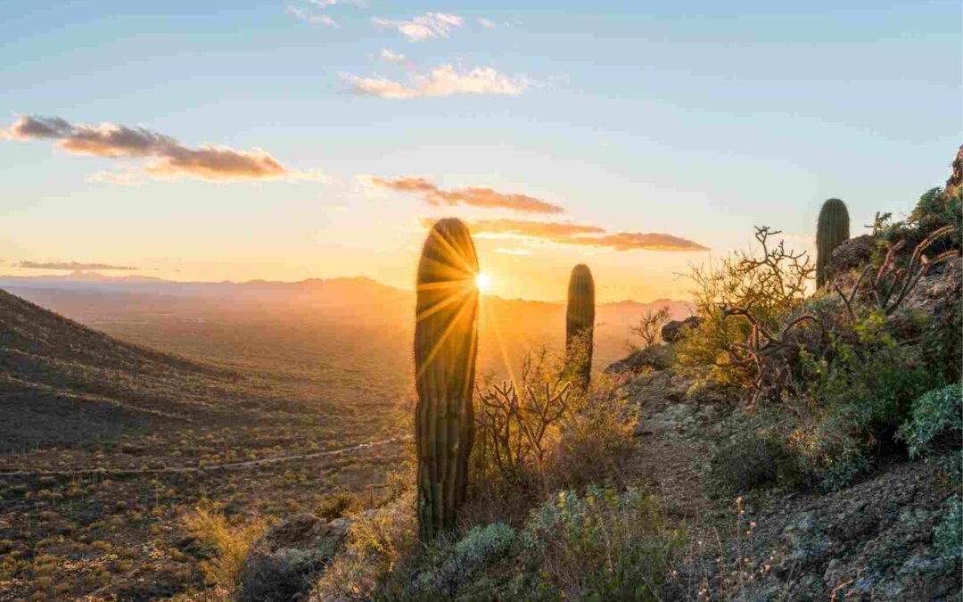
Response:
[{"label": "large grey-green shrub at bottom edge, right of the largest saguaro's base", "polygon": [[521,599],[661,599],[681,544],[650,495],[593,485],[533,510],[520,538],[529,576],[515,584]]}]

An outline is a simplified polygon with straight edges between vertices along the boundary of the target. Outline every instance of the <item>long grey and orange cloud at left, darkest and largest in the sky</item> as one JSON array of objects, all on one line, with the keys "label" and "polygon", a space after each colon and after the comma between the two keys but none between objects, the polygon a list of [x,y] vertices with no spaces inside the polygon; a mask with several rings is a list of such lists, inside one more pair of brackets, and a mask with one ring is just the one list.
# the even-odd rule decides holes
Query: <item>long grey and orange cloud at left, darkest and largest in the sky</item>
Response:
[{"label": "long grey and orange cloud at left, darkest and largest in the sky", "polygon": [[19,141],[54,140],[71,154],[150,159],[144,172],[156,178],[191,177],[229,182],[324,177],[314,171],[287,168],[260,148],[247,151],[214,144],[192,148],[141,126],[73,124],[59,117],[21,115],[3,133],[4,138]]}]

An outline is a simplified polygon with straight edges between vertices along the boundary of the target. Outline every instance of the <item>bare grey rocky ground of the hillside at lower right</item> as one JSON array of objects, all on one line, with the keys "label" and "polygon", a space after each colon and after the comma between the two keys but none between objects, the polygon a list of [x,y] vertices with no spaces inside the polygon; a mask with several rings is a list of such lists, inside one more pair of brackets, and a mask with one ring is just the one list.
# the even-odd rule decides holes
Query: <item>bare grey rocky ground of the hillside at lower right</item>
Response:
[{"label": "bare grey rocky ground of the hillside at lower right", "polygon": [[[908,305],[939,313],[958,303],[960,274],[957,258],[924,278]],[[687,397],[693,379],[676,374],[661,359],[667,353],[665,346],[649,350],[648,362],[637,358],[637,369],[647,363],[652,372],[634,376],[626,391],[644,416],[638,474],[670,517],[693,526],[689,560],[668,599],[701,599],[699,590],[718,599],[959,599],[960,563],[934,543],[949,490],[936,467],[894,454],[839,491],[755,486],[748,477],[743,483],[753,486],[743,490],[719,486],[720,450],[731,445],[733,421],[745,417],[721,391]],[[747,464],[766,455],[749,450],[721,468],[748,474]]]}]

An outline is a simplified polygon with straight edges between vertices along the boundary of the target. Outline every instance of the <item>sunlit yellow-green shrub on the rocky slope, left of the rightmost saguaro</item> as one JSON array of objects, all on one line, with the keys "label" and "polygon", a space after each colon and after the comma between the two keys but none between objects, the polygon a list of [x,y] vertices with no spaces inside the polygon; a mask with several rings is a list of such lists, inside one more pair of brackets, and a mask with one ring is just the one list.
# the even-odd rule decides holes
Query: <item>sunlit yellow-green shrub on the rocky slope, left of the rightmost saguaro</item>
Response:
[{"label": "sunlit yellow-green shrub on the rocky slope, left of the rightmost saguaro", "polygon": [[727,307],[751,308],[761,327],[771,331],[802,307],[815,269],[805,252],[786,249],[782,241],[773,244],[771,237],[779,233],[757,227],[757,249],[690,270],[690,294],[703,320],[676,344],[676,364],[681,373],[700,379],[697,384],[748,387],[752,381],[751,371],[730,353],[747,342],[752,325],[728,319]]}]

